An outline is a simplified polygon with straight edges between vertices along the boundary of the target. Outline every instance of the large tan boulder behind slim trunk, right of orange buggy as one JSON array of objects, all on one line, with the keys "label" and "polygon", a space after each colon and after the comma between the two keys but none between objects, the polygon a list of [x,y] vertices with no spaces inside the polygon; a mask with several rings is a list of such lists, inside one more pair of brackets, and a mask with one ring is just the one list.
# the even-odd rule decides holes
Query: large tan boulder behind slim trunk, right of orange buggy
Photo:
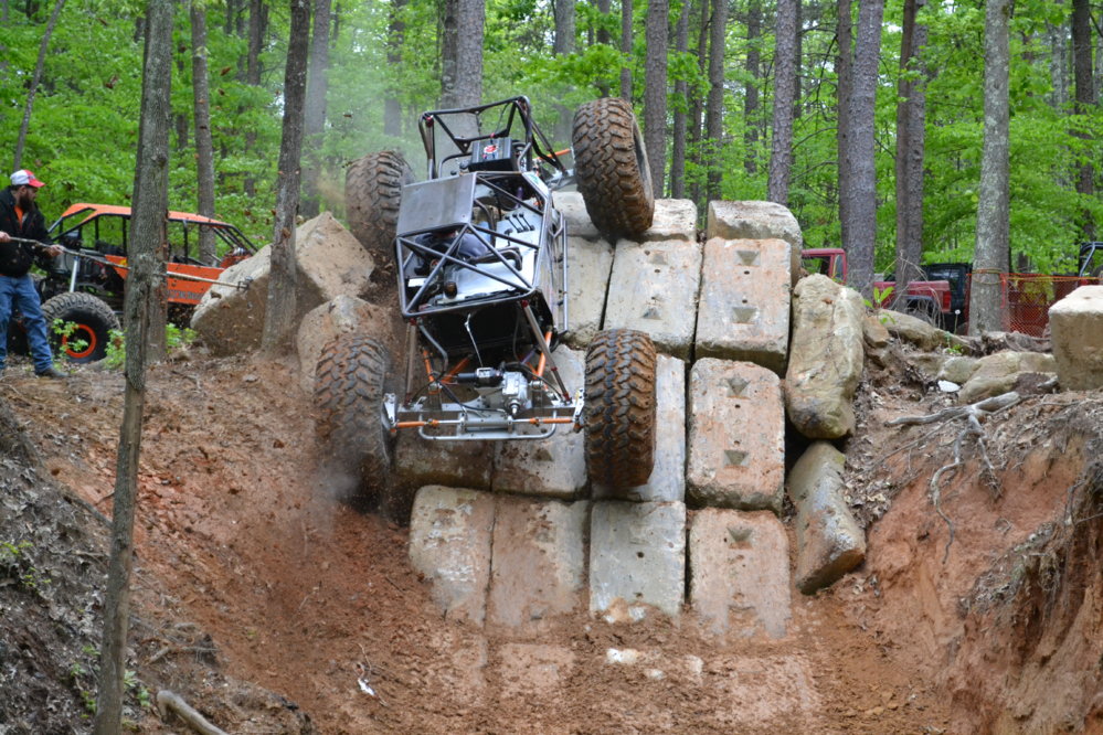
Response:
[{"label": "large tan boulder behind slim trunk, right of orange buggy", "polygon": [[[296,321],[337,296],[362,297],[374,269],[371,255],[329,212],[295,232]],[[261,345],[268,302],[272,246],[226,268],[220,284],[203,296],[191,327],[214,354],[255,350]],[[222,285],[226,284],[226,285]]]}]

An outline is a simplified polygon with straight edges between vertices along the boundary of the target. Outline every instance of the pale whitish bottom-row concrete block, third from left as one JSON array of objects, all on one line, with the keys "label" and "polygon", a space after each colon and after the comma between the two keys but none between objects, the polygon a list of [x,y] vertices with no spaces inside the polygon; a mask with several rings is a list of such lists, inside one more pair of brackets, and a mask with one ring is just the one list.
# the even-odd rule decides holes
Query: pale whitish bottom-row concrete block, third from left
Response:
[{"label": "pale whitish bottom-row concrete block, third from left", "polygon": [[686,585],[686,505],[602,500],[590,521],[590,611],[611,621],[669,617]]}]

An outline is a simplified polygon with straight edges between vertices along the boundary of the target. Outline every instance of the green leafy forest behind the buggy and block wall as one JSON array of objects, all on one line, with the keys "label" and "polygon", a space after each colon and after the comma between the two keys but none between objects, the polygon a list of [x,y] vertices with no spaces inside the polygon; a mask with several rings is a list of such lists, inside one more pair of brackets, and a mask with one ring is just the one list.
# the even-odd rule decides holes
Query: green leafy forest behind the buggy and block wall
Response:
[{"label": "green leafy forest behind the buggy and block wall", "polygon": [[[571,111],[594,97],[621,94],[644,124],[653,170],[661,131],[664,166],[656,177],[661,195],[692,199],[702,213],[712,199],[782,201],[800,223],[807,246],[847,244],[840,196],[846,184],[838,166],[846,157],[842,139],[849,125],[871,122],[873,177],[862,200],[876,204],[878,270],[893,268],[906,226],[901,224],[906,217],[898,219],[904,214],[898,201],[906,199],[898,184],[901,167],[908,157],[914,166],[916,153],[914,135],[910,149],[900,146],[906,117],[901,103],[911,100],[914,114],[918,100],[921,189],[919,203],[906,205],[910,236],[921,244],[923,262],[973,259],[986,23],[991,23],[979,0],[314,0],[310,6],[300,215],[330,210],[341,216],[344,168],[364,153],[399,149],[421,172],[417,117],[448,106],[456,45],[463,58],[463,44],[481,36],[476,94],[484,102],[527,95],[555,147],[566,148]],[[863,71],[839,50],[858,49],[860,62],[870,7],[874,20],[881,13],[874,23],[880,38],[868,44],[873,64]],[[1103,77],[1100,8],[1086,0],[1004,0],[1001,7],[1009,49],[1006,269],[1074,271],[1077,242],[1096,238],[1094,223],[1103,217],[1097,182],[1103,115],[1091,84]],[[0,148],[7,166],[15,168],[18,151],[19,166],[47,182],[41,198],[47,220],[72,202],[129,203],[144,10],[144,2],[130,0],[0,0]],[[479,15],[481,28],[465,21],[465,12]],[[289,23],[288,3],[267,0],[193,0],[177,3],[174,13],[169,205],[202,211],[195,136],[197,95],[202,95],[209,97],[203,104],[213,146],[213,215],[261,244],[271,242],[275,216]],[[786,23],[794,33],[783,33]],[[49,43],[34,83],[44,38]],[[200,57],[204,66],[197,65]],[[787,60],[795,62],[789,82]],[[460,74],[469,72],[465,64]],[[840,102],[840,73],[848,65],[856,88],[861,75],[867,77],[871,118],[848,115],[855,108],[846,97],[847,79]],[[194,84],[201,68],[205,93]],[[654,102],[656,95],[661,103]],[[778,117],[785,111],[775,105],[778,97],[793,99],[787,121]],[[202,121],[200,129],[206,129]],[[786,142],[788,157],[777,151]],[[785,167],[781,190],[772,161]]]}]

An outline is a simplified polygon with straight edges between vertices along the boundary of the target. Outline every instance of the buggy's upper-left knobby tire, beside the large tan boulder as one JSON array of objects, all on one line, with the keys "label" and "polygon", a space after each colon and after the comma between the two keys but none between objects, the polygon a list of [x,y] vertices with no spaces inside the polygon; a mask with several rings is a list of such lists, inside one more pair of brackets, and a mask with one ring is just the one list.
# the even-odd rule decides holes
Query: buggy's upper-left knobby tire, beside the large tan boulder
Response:
[{"label": "buggy's upper-left knobby tire, beside the large tan boulder", "polygon": [[371,254],[376,268],[394,260],[394,230],[402,188],[414,180],[402,153],[384,150],[353,161],[344,174],[349,228]]}]

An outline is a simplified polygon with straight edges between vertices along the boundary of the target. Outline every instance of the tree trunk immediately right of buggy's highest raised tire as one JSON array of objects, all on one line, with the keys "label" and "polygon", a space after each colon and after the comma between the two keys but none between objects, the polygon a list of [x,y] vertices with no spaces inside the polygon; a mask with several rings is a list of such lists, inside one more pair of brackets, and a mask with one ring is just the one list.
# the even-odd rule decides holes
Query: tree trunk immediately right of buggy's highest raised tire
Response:
[{"label": "tree trunk immediately right of buggy's highest raised tire", "polygon": [[651,167],[651,191],[657,198],[662,196],[666,185],[669,15],[669,0],[650,0],[645,30],[647,60],[644,66],[644,146]]}]

